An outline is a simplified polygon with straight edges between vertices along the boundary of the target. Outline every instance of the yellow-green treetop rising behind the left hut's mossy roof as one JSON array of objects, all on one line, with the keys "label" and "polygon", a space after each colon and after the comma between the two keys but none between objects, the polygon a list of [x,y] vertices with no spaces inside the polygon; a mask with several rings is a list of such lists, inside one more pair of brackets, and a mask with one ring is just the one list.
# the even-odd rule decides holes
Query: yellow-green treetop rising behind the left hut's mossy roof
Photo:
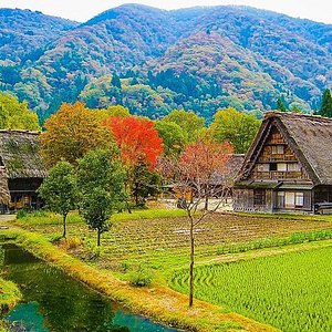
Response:
[{"label": "yellow-green treetop rising behind the left hut's mossy roof", "polygon": [[20,103],[14,96],[0,93],[0,129],[40,131],[41,127],[27,102]]}]

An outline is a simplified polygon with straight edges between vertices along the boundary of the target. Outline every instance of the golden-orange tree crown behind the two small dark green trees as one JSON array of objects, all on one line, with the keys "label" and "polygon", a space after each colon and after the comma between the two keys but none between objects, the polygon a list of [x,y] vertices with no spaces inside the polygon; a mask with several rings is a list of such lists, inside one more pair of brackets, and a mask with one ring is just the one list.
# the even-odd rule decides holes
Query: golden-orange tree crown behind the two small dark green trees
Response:
[{"label": "golden-orange tree crown behind the two small dark green trees", "polygon": [[40,136],[41,154],[49,166],[60,160],[75,164],[90,149],[114,145],[111,131],[101,125],[94,111],[80,102],[62,104],[44,127]]}]

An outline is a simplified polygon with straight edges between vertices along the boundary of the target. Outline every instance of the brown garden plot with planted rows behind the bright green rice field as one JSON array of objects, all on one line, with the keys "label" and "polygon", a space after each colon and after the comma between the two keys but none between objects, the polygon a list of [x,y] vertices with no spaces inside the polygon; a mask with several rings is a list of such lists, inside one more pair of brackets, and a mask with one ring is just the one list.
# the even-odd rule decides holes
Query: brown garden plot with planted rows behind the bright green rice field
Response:
[{"label": "brown garden plot with planted rows behind the bright green rice field", "polygon": [[[31,225],[25,228],[54,235],[61,225]],[[185,217],[115,221],[102,236],[102,267],[118,269],[123,261],[149,262],[156,268],[172,268],[188,260],[189,236]],[[205,259],[226,251],[225,245],[274,238],[299,231],[332,229],[332,222],[253,218],[216,214],[204,220],[196,235],[196,258]],[[82,222],[70,224],[70,237],[94,241],[95,235]],[[98,262],[97,262],[98,263]]]}]

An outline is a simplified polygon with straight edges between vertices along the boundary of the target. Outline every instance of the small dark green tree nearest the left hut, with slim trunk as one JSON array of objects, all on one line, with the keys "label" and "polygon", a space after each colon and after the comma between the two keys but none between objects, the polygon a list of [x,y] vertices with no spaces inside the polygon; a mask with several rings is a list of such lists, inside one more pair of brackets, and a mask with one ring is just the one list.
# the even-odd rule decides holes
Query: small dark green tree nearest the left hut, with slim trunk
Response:
[{"label": "small dark green tree nearest the left hut, with slim trunk", "polygon": [[46,206],[63,217],[63,237],[66,236],[68,214],[76,207],[79,190],[74,167],[68,162],[59,162],[51,169],[38,189]]}]

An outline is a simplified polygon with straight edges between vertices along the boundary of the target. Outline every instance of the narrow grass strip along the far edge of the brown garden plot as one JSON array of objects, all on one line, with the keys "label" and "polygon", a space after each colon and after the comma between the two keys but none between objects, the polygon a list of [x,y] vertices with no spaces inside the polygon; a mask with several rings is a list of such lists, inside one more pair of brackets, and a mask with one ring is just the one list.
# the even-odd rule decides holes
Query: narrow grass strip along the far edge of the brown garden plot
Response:
[{"label": "narrow grass strip along the far edge of the brown garden plot", "polygon": [[[111,217],[113,222],[126,220],[157,219],[157,218],[176,218],[186,216],[181,209],[139,209],[133,210],[132,214],[124,211],[114,214]],[[62,216],[50,211],[27,212],[18,219],[20,225],[62,225]],[[68,224],[84,224],[83,218],[77,211],[72,211],[68,216]]]}]

